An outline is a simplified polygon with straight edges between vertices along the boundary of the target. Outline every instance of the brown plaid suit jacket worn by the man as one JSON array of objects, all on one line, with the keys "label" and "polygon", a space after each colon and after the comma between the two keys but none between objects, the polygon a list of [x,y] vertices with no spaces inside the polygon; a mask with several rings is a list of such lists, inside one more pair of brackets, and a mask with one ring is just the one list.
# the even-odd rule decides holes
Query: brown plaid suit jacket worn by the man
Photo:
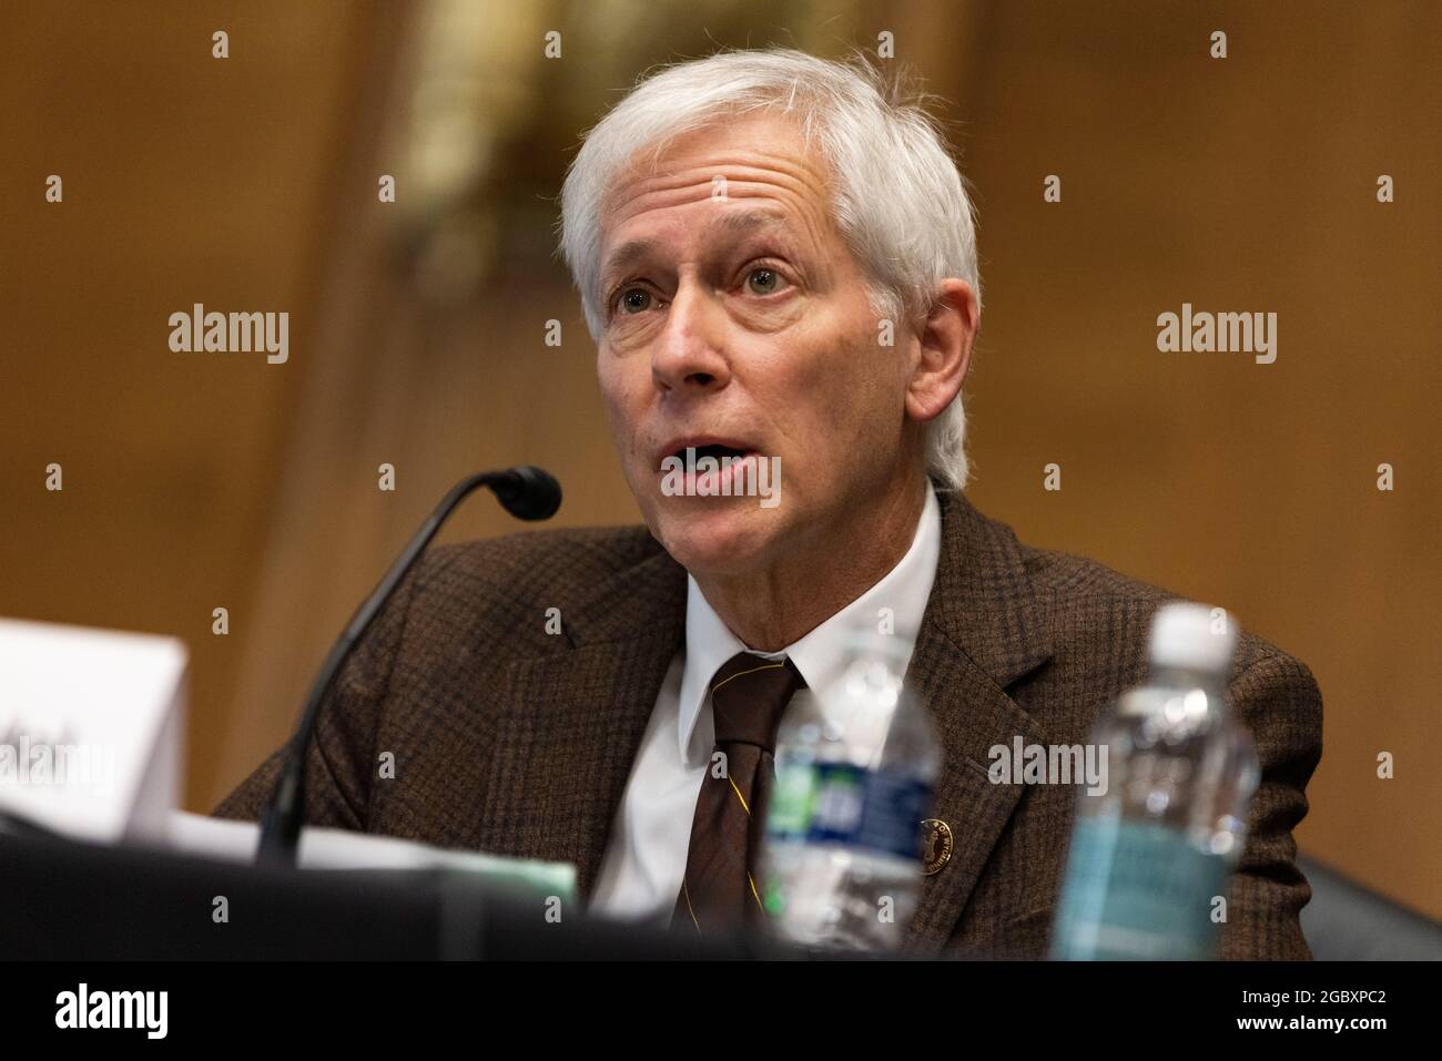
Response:
[{"label": "brown plaid suit jacket worn by the man", "polygon": [[[942,556],[908,682],[945,745],[936,817],[956,849],[927,876],[917,953],[1043,957],[1077,790],[992,784],[988,750],[1087,740],[1146,672],[1169,598],[1096,562],[1021,545],[943,492]],[[685,636],[686,572],[642,526],[433,549],[342,673],[307,764],[306,820],[572,862],[588,897],[632,763]],[[548,608],[562,633],[545,633]],[[1262,784],[1221,956],[1305,959],[1311,889],[1292,829],[1321,757],[1311,672],[1243,634],[1229,686]],[[395,777],[378,778],[382,753]],[[215,810],[258,817],[271,755]]]}]

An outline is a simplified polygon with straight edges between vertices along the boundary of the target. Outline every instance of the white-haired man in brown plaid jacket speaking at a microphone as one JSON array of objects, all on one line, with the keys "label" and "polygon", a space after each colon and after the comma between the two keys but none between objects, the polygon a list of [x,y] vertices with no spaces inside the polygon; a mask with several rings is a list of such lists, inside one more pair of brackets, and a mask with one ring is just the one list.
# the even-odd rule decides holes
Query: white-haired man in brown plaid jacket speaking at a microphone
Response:
[{"label": "white-haired man in brown plaid jacket speaking at a microphone", "polygon": [[[989,750],[1084,742],[1145,678],[1168,594],[1027,548],[962,493],[981,284],[936,125],[859,62],[675,65],[585,137],[561,245],[646,526],[435,549],[322,716],[307,820],[574,862],[597,913],[754,924],[779,712],[833,695],[848,636],[884,624],[953,843],[907,941],[1044,956],[1076,789],[994,784]],[[730,682],[767,706],[721,711]],[[1221,954],[1306,957],[1291,830],[1321,698],[1246,634],[1227,692],[1262,783]],[[254,817],[277,763],[218,813]]]}]

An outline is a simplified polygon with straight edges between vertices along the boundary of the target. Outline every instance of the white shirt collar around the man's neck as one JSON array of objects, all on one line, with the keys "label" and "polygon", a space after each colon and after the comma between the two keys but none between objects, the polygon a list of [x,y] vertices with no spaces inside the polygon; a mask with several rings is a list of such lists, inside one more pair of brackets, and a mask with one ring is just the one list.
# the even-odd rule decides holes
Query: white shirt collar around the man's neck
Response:
[{"label": "white shirt collar around the man's neck", "polygon": [[[789,657],[808,688],[825,696],[835,686],[846,666],[848,633],[857,629],[875,630],[883,620],[881,608],[891,610],[894,636],[910,660],[926,601],[932,595],[936,565],[942,555],[942,509],[936,490],[927,480],[926,503],[917,520],[911,548],[887,575],[844,607],[825,623],[802,636],[780,652],[754,652],[731,633],[730,627],[707,601],[696,580],[686,575],[686,659],[681,676],[678,714],[678,751],[682,763],[691,763],[689,745],[695,737],[696,719],[707,702],[711,679],[721,665],[738,652],[754,652],[763,659]],[[904,665],[903,665],[904,672]],[[711,748],[701,748],[709,757]]]}]

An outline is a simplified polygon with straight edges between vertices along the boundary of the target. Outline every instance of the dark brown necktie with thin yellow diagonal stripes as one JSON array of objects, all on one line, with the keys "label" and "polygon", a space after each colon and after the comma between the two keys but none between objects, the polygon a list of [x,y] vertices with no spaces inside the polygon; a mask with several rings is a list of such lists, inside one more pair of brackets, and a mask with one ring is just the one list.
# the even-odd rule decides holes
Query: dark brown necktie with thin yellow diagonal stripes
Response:
[{"label": "dark brown necktie with thin yellow diagonal stripes", "polygon": [[754,872],[776,774],[776,728],[792,693],[803,688],[789,659],[747,652],[711,679],[717,742],[696,797],[672,927],[722,931],[763,920]]}]

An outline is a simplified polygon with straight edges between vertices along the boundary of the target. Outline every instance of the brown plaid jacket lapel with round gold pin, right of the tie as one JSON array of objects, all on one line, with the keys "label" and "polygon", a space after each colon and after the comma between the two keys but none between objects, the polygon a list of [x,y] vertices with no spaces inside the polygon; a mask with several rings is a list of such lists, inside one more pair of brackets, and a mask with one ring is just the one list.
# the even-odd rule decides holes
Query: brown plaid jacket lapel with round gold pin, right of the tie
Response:
[{"label": "brown plaid jacket lapel with round gold pin, right of the tie", "polygon": [[982,516],[959,493],[939,492],[942,556],[907,680],[932,711],[945,764],[933,817],[953,833],[947,864],[924,878],[908,944],[940,950],[952,937],[1022,787],[992,784],[989,751],[1019,735],[1047,744],[1044,729],[1007,689],[1053,654],[1047,601],[1027,577],[1009,528]]}]

